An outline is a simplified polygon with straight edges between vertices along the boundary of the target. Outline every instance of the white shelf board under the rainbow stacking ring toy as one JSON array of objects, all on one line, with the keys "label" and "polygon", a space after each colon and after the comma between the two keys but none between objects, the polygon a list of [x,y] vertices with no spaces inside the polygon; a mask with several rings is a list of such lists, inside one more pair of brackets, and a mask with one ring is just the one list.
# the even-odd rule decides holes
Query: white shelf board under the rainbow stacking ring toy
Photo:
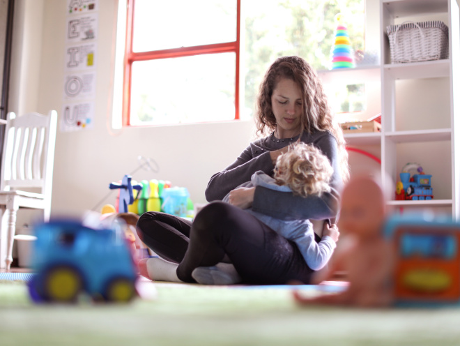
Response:
[{"label": "white shelf board under the rainbow stacking ring toy", "polygon": [[325,84],[337,82],[346,82],[347,84],[375,82],[380,80],[380,65],[319,70],[318,75]]}]

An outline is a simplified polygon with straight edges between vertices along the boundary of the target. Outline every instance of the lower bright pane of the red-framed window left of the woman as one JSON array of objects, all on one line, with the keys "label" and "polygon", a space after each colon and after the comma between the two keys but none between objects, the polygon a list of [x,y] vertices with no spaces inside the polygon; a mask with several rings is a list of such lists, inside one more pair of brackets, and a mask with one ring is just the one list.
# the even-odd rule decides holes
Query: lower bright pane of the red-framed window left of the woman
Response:
[{"label": "lower bright pane of the red-framed window left of the woman", "polygon": [[235,53],[132,63],[132,125],[235,119]]}]

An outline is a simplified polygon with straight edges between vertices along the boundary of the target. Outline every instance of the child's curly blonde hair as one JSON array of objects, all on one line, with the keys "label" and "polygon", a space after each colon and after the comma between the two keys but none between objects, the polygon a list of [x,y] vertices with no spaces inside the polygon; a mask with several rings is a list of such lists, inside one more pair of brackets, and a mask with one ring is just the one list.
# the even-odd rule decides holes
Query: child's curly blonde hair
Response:
[{"label": "child's curly blonde hair", "polygon": [[286,185],[302,197],[330,192],[332,166],[326,156],[313,145],[302,142],[290,144],[288,151],[278,156],[275,181]]}]

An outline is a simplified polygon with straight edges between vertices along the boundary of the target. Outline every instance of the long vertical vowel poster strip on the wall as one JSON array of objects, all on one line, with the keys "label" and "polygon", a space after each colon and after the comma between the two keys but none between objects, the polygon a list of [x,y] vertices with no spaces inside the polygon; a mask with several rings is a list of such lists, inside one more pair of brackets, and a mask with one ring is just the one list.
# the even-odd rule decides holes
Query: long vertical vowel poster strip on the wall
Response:
[{"label": "long vertical vowel poster strip on the wall", "polygon": [[61,131],[93,128],[98,9],[98,0],[67,0]]}]

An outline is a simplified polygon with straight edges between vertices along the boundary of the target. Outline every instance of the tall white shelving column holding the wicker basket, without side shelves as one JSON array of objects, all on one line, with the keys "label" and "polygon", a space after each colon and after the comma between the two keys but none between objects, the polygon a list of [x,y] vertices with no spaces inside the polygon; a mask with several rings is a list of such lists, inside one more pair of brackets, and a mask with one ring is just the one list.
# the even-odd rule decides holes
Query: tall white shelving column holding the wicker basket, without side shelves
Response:
[{"label": "tall white shelving column holding the wicker basket, without side shelves", "polygon": [[[391,24],[398,24],[402,21],[413,20],[413,17],[445,14],[448,18],[449,27],[449,59],[437,61],[422,61],[417,63],[391,63],[390,46],[386,34],[386,27]],[[440,142],[449,142],[450,152],[439,152],[437,156],[443,158],[442,163],[437,167],[439,172],[451,171],[450,181],[444,181],[450,185],[450,196],[445,199],[424,201],[391,201],[391,206],[404,208],[410,207],[447,207],[452,211],[454,218],[460,218],[459,208],[459,179],[460,179],[460,158],[455,153],[459,151],[459,141],[455,141],[455,135],[460,135],[459,123],[459,101],[455,103],[454,95],[458,95],[458,79],[460,63],[459,52],[459,6],[456,0],[381,0],[381,82],[382,82],[382,174],[396,179],[401,167],[397,167],[397,158],[400,146],[404,144],[419,145],[430,143],[436,145]],[[397,80],[422,80],[427,78],[445,78],[449,84],[450,107],[445,114],[433,114],[450,122],[449,128],[433,128],[429,130],[398,130],[397,117],[405,114],[397,114]],[[417,87],[417,86],[415,86]],[[413,116],[413,114],[412,114]],[[432,160],[427,156],[425,160]],[[410,161],[411,158],[406,158]],[[436,172],[432,179],[436,179]],[[390,188],[390,186],[387,186]]]}]

